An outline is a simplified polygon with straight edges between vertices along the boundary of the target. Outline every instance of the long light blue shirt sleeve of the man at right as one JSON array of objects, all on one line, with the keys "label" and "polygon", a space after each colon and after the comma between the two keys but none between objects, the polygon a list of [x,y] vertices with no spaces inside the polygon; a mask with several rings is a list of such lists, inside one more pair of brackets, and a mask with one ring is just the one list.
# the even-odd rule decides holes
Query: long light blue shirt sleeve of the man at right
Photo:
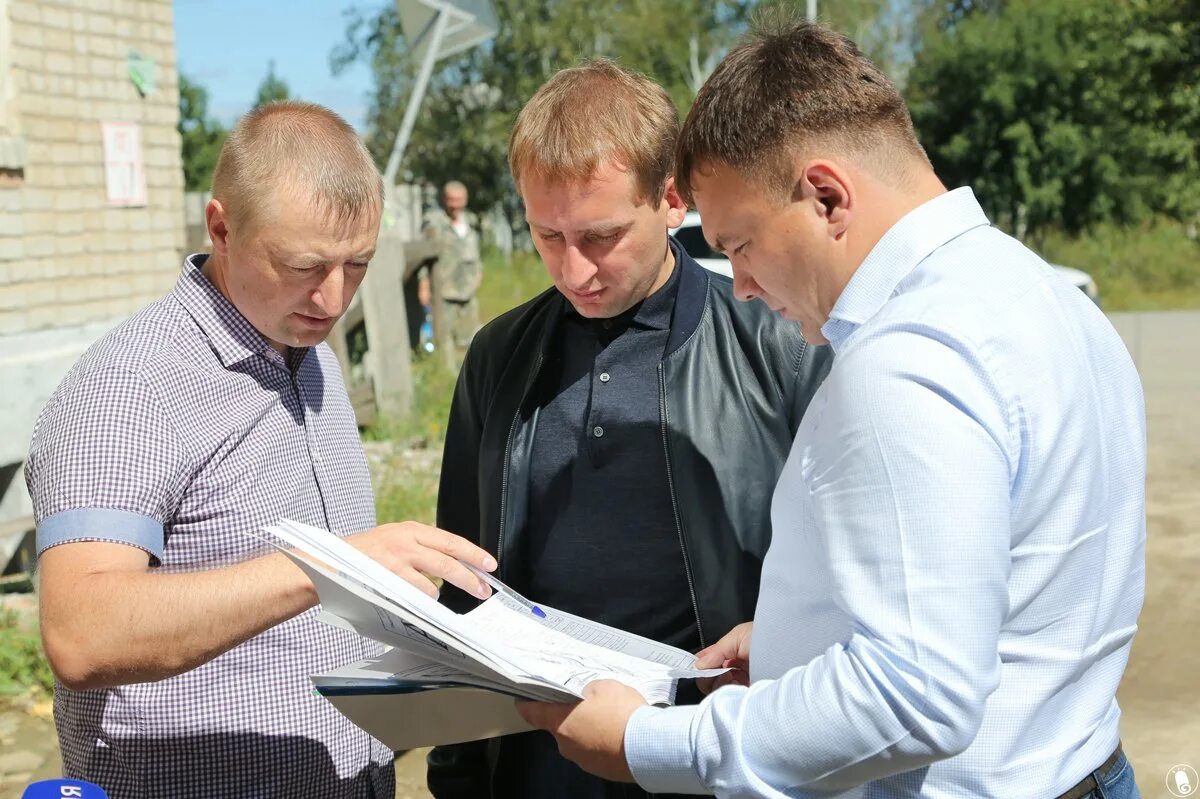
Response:
[{"label": "long light blue shirt sleeve of the man at right", "polygon": [[[848,633],[773,679],[635,714],[626,758],[647,789],[827,794],[958,755],[982,723],[1008,613],[1008,401],[985,352],[944,330],[881,325],[838,359],[776,491],[768,559],[823,570]],[[815,529],[780,515],[797,504]],[[755,620],[776,657],[805,635],[786,602]]]}]

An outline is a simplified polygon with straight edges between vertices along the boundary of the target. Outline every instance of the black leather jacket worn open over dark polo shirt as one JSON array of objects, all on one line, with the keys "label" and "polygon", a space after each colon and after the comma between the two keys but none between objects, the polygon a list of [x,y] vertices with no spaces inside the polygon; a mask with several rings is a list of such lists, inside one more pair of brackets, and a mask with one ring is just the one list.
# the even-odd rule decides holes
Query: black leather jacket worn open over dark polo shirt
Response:
[{"label": "black leather jacket worn open over dark polo shirt", "polygon": [[[659,366],[661,445],[702,645],[754,615],[770,541],[770,495],[800,416],[830,365],[799,325],[673,241],[680,269],[674,318]],[[527,517],[534,385],[566,300],[550,289],[486,325],[470,344],[450,408],[438,527],[505,557]],[[445,601],[466,597],[456,589]],[[488,797],[487,741],[430,756],[439,799]]]}]

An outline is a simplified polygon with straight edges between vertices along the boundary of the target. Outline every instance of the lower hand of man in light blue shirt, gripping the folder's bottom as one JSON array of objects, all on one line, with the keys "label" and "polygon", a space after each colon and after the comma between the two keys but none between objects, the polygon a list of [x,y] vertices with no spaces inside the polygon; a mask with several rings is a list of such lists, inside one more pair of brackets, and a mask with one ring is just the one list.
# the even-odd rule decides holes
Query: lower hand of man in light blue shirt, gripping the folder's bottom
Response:
[{"label": "lower hand of man in light blue shirt, gripping the folder's bottom", "polygon": [[625,762],[625,726],[646,704],[642,695],[613,680],[596,680],[575,704],[517,702],[521,716],[554,735],[558,751],[584,771],[613,782],[632,782]]}]

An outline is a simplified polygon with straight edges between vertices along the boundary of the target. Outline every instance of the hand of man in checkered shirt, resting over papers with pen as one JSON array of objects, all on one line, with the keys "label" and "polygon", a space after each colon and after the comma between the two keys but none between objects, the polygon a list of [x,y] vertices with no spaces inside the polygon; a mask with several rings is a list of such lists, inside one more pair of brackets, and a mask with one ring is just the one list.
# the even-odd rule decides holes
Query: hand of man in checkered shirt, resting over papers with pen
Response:
[{"label": "hand of man in checkered shirt, resting over papers with pen", "polygon": [[479,599],[492,595],[487,583],[458,561],[493,571],[496,558],[454,533],[420,522],[400,522],[380,524],[346,541],[433,599],[438,597],[438,588],[428,576],[440,577]]}]

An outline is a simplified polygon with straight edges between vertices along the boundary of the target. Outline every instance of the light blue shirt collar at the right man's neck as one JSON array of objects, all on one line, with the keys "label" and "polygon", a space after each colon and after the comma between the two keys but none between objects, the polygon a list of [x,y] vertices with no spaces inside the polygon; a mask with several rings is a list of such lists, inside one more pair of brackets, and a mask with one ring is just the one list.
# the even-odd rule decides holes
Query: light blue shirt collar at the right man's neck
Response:
[{"label": "light blue shirt collar at the right man's neck", "polygon": [[942,245],[990,224],[970,186],[938,194],[893,224],[838,298],[821,334],[836,352],[859,325],[878,313],[900,282]]}]

